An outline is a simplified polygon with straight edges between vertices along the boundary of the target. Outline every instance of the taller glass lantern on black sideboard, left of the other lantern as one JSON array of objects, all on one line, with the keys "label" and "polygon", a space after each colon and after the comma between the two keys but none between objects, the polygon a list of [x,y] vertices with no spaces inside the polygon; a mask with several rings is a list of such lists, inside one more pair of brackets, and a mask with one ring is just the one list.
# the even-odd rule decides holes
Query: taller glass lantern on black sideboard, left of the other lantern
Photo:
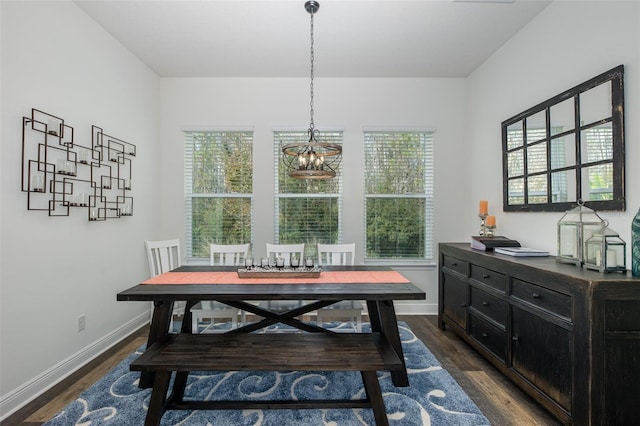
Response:
[{"label": "taller glass lantern on black sideboard, left of the other lantern", "polygon": [[578,206],[568,210],[558,222],[558,256],[560,263],[584,263],[584,243],[599,231],[605,221],[595,210],[585,207],[582,200]]}]

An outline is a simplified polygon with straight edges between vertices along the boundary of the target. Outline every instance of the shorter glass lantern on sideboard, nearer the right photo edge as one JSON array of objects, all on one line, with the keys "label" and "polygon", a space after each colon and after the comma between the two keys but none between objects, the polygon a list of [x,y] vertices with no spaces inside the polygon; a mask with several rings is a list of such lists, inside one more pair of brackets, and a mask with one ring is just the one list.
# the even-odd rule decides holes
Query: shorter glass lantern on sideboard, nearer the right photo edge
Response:
[{"label": "shorter glass lantern on sideboard, nearer the right photo edge", "polygon": [[617,232],[603,225],[585,243],[584,267],[600,272],[625,272],[626,247]]}]

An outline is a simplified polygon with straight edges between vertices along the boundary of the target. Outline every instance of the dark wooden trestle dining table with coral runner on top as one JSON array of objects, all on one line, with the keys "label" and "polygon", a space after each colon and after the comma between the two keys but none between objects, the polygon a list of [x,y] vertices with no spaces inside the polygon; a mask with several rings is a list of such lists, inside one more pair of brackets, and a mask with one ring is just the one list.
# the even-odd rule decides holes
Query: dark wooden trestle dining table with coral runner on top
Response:
[{"label": "dark wooden trestle dining table with coral runner on top", "polygon": [[[191,333],[191,308],[204,300],[222,302],[262,318],[227,333],[255,332],[275,323],[303,332],[333,333],[300,318],[339,301],[363,300],[367,304],[371,331],[384,336],[401,360],[401,367],[390,371],[394,386],[409,386],[394,301],[422,300],[425,292],[399,272],[380,266],[330,266],[323,267],[319,276],[311,278],[287,278],[282,274],[277,278],[241,278],[239,275],[237,266],[181,266],[118,293],[117,300],[153,302],[147,347],[168,339],[175,302],[186,302],[181,333]],[[270,311],[255,303],[274,300],[304,303],[283,312]],[[291,338],[295,339],[295,333]],[[153,378],[153,373],[143,372],[139,386],[152,387]]]}]

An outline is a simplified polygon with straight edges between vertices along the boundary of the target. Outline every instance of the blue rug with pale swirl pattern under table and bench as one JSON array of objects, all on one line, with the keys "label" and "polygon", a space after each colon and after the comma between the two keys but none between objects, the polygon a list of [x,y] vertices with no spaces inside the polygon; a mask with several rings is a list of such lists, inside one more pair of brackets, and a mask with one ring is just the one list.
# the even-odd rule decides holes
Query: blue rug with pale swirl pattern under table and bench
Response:
[{"label": "blue rug with pale swirl pattern under table and bench", "polygon": [[[411,386],[396,388],[379,372],[391,425],[488,425],[489,421],[405,323],[399,323]],[[363,332],[370,331],[369,324]],[[67,405],[45,426],[142,425],[150,389],[138,388],[131,354]],[[259,354],[257,354],[259,356]],[[185,399],[347,399],[363,397],[358,372],[205,372],[192,373]],[[373,425],[370,409],[167,411],[162,425],[202,426],[362,426]]]}]

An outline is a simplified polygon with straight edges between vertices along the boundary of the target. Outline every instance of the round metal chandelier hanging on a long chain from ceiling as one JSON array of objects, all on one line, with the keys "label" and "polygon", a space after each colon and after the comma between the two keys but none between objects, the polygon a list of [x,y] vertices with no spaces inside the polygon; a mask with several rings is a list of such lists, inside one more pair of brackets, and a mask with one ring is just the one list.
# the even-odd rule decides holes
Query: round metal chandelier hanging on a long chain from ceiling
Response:
[{"label": "round metal chandelier hanging on a long chain from ceiling", "polygon": [[297,179],[328,179],[336,176],[336,169],[342,157],[342,145],[330,142],[318,142],[319,132],[313,123],[313,15],[320,3],[310,0],[304,8],[311,14],[311,102],[308,140],[282,147],[283,163],[289,176]]}]

